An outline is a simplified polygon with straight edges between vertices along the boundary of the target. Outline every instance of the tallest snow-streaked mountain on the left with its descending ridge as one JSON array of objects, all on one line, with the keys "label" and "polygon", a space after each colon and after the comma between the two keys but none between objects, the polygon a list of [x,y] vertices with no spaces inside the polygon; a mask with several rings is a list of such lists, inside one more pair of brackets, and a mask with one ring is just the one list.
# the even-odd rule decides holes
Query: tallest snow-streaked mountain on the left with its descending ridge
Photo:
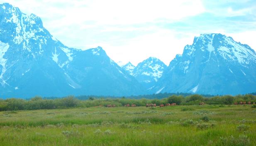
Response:
[{"label": "tallest snow-streaked mountain on the left with its descending ridge", "polygon": [[55,39],[34,14],[0,5],[0,96],[137,95],[141,85],[101,48]]}]

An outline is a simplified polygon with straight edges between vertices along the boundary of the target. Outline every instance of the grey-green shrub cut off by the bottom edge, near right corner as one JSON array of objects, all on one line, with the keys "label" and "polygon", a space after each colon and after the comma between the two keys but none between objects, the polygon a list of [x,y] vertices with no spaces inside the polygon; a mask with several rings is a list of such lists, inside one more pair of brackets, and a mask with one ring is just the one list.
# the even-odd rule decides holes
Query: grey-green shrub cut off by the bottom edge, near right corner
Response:
[{"label": "grey-green shrub cut off by the bottom edge, near right corner", "polygon": [[249,146],[250,139],[246,135],[220,137],[219,146]]}]

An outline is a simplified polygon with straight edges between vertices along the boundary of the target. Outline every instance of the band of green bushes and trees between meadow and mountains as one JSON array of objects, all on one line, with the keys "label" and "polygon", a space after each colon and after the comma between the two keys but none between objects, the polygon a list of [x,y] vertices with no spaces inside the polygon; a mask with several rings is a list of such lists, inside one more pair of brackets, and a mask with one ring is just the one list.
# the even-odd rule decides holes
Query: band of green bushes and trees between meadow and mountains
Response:
[{"label": "band of green bushes and trees between meadow and mountains", "polygon": [[235,102],[256,102],[256,95],[224,95],[204,97],[202,95],[171,95],[162,99],[131,99],[126,97],[121,98],[95,98],[88,97],[88,100],[79,100],[74,96],[68,96],[56,99],[46,99],[42,97],[33,97],[29,100],[9,98],[6,100],[0,99],[0,111],[7,110],[40,110],[40,109],[65,109],[74,107],[96,107],[115,105],[124,106],[127,104],[135,104],[136,106],[146,106],[146,103],[155,103],[156,105],[166,103],[176,103],[177,105],[199,105],[200,103],[209,105],[232,105]]}]

